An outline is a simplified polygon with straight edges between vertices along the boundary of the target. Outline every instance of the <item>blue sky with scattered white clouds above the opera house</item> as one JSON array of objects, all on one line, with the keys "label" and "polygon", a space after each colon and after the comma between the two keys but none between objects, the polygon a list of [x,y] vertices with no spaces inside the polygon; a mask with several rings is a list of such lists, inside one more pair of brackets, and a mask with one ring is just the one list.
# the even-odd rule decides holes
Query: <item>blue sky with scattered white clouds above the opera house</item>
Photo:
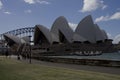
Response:
[{"label": "blue sky with scattered white clouds above the opera house", "polygon": [[109,38],[120,40],[120,0],[0,0],[0,34],[36,24],[51,28],[59,16],[75,29],[87,15]]}]

